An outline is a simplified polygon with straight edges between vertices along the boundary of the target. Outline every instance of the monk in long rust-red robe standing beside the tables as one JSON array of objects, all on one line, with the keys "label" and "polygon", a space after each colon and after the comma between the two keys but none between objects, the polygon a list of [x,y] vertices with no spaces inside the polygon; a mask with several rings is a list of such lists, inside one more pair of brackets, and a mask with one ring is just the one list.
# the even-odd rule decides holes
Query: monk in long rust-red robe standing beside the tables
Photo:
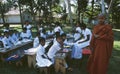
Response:
[{"label": "monk in long rust-red robe standing beside the tables", "polygon": [[107,74],[113,41],[112,27],[105,23],[105,15],[99,14],[98,25],[93,28],[93,36],[90,42],[92,54],[87,64],[89,74]]}]

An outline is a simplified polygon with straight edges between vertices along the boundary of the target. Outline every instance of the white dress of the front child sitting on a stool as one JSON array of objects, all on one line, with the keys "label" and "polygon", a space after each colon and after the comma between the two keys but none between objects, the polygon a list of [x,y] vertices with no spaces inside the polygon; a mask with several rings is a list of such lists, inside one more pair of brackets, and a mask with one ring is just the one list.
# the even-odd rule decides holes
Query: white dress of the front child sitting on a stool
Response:
[{"label": "white dress of the front child sitting on a stool", "polygon": [[37,61],[36,64],[39,67],[49,67],[50,65],[52,65],[52,62],[50,60],[42,57],[42,55],[45,55],[44,53],[45,53],[44,46],[39,45],[39,49],[38,49],[37,55],[36,55],[36,61]]}]

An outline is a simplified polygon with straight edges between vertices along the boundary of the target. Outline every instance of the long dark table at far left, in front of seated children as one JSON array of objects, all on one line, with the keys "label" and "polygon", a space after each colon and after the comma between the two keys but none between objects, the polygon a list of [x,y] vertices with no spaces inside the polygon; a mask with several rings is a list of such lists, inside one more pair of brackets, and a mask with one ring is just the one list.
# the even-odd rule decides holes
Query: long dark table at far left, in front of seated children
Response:
[{"label": "long dark table at far left, in front of seated children", "polygon": [[8,57],[9,55],[11,55],[12,53],[18,51],[18,50],[22,50],[22,52],[20,52],[20,56],[24,55],[24,50],[29,49],[33,47],[33,41],[27,41],[27,42],[21,42],[21,44],[18,45],[14,45],[11,48],[0,48],[0,59],[2,61],[4,61],[4,59],[6,57]]}]

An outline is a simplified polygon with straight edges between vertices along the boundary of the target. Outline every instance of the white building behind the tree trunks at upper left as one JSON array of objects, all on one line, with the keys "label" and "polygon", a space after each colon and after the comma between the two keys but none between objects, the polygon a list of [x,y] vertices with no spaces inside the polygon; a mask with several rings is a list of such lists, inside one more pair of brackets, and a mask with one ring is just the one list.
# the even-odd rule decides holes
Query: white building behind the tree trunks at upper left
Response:
[{"label": "white building behind the tree trunks at upper left", "polygon": [[[4,17],[5,23],[12,23],[12,24],[21,23],[20,12],[18,9],[8,11],[4,15],[5,15],[5,17]],[[24,11],[22,13],[22,21],[24,22],[26,20],[31,22],[32,16],[30,15],[30,13]],[[3,20],[1,17],[0,17],[0,23],[3,23]]]}]

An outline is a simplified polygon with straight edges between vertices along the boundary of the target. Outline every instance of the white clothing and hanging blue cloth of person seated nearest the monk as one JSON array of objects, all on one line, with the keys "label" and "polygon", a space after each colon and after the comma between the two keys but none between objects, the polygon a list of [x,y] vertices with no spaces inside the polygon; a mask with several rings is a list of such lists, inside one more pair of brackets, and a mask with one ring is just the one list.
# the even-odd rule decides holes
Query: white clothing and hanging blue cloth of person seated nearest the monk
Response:
[{"label": "white clothing and hanging blue cloth of person seated nearest the monk", "polygon": [[[90,45],[90,40],[91,40],[91,37],[92,37],[91,31],[88,28],[86,28],[85,30],[82,30],[82,34],[83,34],[84,38],[77,41],[74,44],[74,47],[72,49],[72,58],[81,59],[82,58],[82,48]],[[88,41],[83,42],[83,43],[78,43],[78,42],[82,42],[82,41],[86,40],[87,35],[90,35],[90,39]]]}]

